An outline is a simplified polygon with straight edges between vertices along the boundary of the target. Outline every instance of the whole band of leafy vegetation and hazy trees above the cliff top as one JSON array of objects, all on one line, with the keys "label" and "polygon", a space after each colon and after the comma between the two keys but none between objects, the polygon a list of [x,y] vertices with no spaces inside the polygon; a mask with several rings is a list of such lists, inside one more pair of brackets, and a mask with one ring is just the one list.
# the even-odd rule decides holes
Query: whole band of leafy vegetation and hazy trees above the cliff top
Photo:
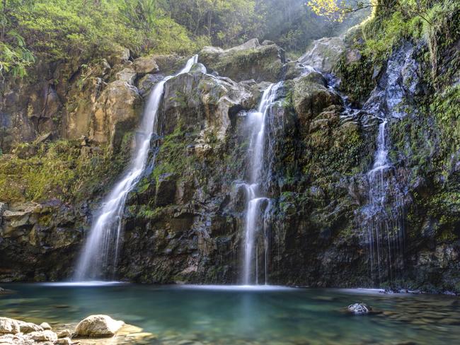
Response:
[{"label": "whole band of leafy vegetation and hazy trees above the cliff top", "polygon": [[25,76],[37,59],[88,60],[120,45],[135,56],[188,55],[259,37],[300,53],[346,26],[316,16],[301,0],[4,0],[0,24],[4,78]]}]

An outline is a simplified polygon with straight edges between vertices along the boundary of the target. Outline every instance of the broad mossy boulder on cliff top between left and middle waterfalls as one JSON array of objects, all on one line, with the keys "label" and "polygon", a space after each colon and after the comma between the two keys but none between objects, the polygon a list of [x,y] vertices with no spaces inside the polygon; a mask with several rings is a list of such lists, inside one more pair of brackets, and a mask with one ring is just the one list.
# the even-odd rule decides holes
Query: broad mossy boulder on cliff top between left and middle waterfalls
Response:
[{"label": "broad mossy boulder on cliff top between left and middle waterfalls", "polygon": [[260,45],[257,39],[230,49],[204,47],[198,61],[234,81],[277,81],[283,69],[284,50],[275,44]]}]

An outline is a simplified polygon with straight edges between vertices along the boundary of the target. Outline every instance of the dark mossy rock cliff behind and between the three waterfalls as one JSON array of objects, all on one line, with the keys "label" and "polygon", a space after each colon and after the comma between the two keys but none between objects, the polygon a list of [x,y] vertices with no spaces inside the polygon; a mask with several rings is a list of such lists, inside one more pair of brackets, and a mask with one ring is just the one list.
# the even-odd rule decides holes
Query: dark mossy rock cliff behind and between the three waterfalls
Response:
[{"label": "dark mossy rock cliff behind and between the three waterfalls", "polygon": [[[284,80],[265,143],[270,205],[261,210],[267,224],[258,234],[257,257],[267,258],[268,282],[460,292],[459,151],[445,147],[458,132],[439,122],[441,91],[424,72],[431,67],[429,47],[407,40],[369,69],[359,35],[315,42],[298,62],[286,61],[271,42],[205,47],[190,73],[166,81],[154,165],[127,200],[118,279],[241,281],[245,121],[268,82]],[[11,190],[0,194],[0,281],[70,276],[100,197],[130,156],[146,95],[183,61],[133,60],[120,50],[85,67],[40,66],[37,76],[40,69],[47,74],[38,81],[4,86],[4,167],[47,167],[60,138],[65,154],[72,152],[62,169],[91,166],[92,172],[66,176],[64,185],[45,181],[35,194],[29,192],[33,179],[2,175],[2,186]],[[452,92],[458,75],[446,83],[443,92]],[[369,170],[384,121],[391,163],[382,177],[386,213],[369,216]],[[37,141],[47,133],[52,138]],[[385,252],[396,250],[390,234],[401,232],[403,243],[393,261],[382,256],[379,271],[369,229],[382,224],[382,238],[391,241]]]}]

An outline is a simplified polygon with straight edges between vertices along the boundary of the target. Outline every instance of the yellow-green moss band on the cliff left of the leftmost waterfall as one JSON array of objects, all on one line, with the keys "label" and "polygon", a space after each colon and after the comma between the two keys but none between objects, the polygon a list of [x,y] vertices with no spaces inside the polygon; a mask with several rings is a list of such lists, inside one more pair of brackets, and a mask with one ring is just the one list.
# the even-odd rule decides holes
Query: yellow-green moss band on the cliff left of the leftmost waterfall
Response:
[{"label": "yellow-green moss band on the cliff left of the leftmost waterfall", "polygon": [[105,183],[102,182],[116,177],[127,161],[126,147],[113,156],[106,147],[87,148],[83,152],[78,141],[59,140],[33,145],[18,146],[33,148],[34,154],[30,157],[0,157],[1,201],[57,198],[71,202],[88,199],[103,188]]}]

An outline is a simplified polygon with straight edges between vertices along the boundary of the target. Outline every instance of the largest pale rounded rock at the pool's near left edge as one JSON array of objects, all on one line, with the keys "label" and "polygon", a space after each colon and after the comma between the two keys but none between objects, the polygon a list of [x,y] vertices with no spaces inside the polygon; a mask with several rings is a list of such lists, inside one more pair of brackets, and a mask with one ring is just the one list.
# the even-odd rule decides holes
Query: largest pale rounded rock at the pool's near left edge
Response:
[{"label": "largest pale rounded rock at the pool's near left edge", "polygon": [[76,325],[77,337],[113,337],[125,322],[108,315],[90,315]]}]

